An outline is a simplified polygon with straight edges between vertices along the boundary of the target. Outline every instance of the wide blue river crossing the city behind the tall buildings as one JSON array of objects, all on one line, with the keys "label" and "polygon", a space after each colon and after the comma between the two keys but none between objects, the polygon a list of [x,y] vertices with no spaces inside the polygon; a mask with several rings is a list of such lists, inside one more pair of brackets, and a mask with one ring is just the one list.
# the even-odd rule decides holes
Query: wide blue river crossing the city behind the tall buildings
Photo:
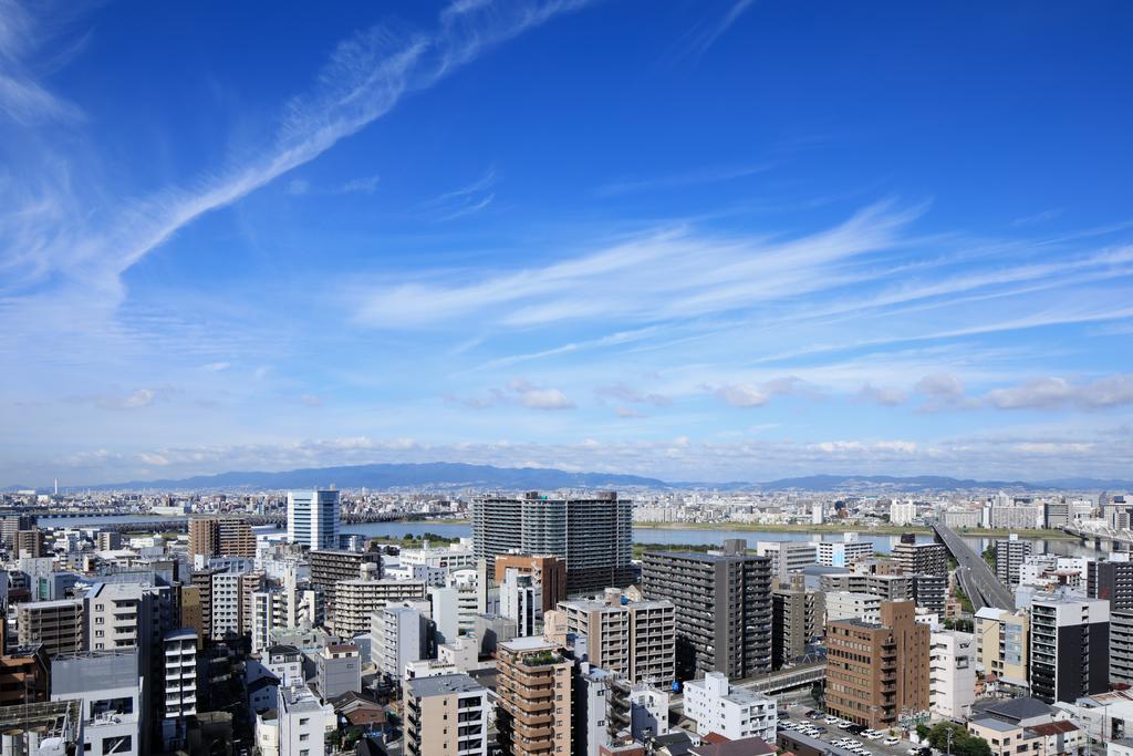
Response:
[{"label": "wide blue river crossing the city behind the tall buildings", "polygon": [[[100,523],[152,523],[162,518],[152,515],[108,515],[107,517],[83,517],[83,518],[51,518],[44,517],[40,520],[43,527],[94,527]],[[185,518],[171,517],[170,523],[180,521]],[[389,536],[401,538],[407,535],[421,536],[426,533],[435,533],[446,538],[468,537],[472,534],[472,527],[460,523],[445,523],[443,520],[415,521],[415,523],[360,523],[357,525],[342,525],[342,533],[359,533],[366,536]],[[271,526],[257,527],[259,533],[278,532]],[[1022,534],[1021,534],[1022,535]],[[859,536],[862,541],[874,544],[874,551],[887,554],[897,542],[895,535],[869,535],[862,533]],[[637,526],[633,528],[633,541],[636,543],[656,543],[663,545],[698,545],[710,546],[721,545],[729,538],[746,538],[749,547],[755,547],[756,541],[837,541],[837,534],[824,533],[776,533],[766,530],[707,530],[700,528],[651,528]],[[929,543],[932,536],[926,533],[917,534],[918,543]],[[982,551],[994,542],[995,538],[965,537],[964,543],[971,546],[976,553]],[[1048,552],[1062,554],[1064,557],[1092,557],[1098,552],[1092,546],[1084,546],[1079,541],[1047,541],[1045,538],[1032,540],[1034,552]]]}]

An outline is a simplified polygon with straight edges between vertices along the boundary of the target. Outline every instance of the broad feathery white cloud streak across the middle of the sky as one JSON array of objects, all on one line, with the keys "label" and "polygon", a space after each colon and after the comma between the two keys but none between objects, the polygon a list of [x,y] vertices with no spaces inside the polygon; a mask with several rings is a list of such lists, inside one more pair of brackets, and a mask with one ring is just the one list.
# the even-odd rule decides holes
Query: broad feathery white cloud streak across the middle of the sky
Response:
[{"label": "broad feathery white cloud streak across the middle of the sky", "polygon": [[[356,290],[357,321],[375,328],[427,328],[489,317],[527,328],[563,321],[642,322],[750,307],[854,280],[840,263],[902,244],[920,209],[867,207],[825,231],[792,240],[712,238],[665,229],[598,252],[471,283],[429,281]],[[467,275],[461,272],[461,278]],[[630,279],[632,286],[629,286]],[[428,301],[428,307],[415,303]]]}]

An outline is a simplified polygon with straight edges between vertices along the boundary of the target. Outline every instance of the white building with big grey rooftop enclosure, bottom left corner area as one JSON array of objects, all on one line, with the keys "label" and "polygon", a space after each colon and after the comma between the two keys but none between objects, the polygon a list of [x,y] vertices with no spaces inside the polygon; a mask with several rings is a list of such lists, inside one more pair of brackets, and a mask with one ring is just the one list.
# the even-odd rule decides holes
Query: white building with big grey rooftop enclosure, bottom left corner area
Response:
[{"label": "white building with big grey rooftop enclosure, bottom left corner area", "polygon": [[157,750],[142,742],[145,682],[137,648],[60,654],[51,660],[51,700],[82,702],[83,745],[78,753],[140,756]]}]

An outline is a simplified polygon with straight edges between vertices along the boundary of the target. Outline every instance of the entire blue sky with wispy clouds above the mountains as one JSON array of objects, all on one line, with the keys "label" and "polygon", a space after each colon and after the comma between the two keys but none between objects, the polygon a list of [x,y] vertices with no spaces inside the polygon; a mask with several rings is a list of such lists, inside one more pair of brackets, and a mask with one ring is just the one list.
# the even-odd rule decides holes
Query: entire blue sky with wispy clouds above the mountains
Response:
[{"label": "entire blue sky with wispy clouds above the mountains", "polygon": [[1133,8],[0,1],[0,484],[1127,476]]}]

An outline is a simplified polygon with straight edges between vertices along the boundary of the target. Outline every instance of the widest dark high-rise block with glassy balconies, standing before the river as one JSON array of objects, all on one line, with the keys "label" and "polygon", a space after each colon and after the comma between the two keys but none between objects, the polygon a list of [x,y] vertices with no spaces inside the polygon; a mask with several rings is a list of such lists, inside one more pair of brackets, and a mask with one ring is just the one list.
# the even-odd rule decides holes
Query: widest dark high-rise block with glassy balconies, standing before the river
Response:
[{"label": "widest dark high-rise block with glassy balconies, standing before the river", "polygon": [[538,492],[480,499],[472,507],[472,540],[492,580],[499,581],[495,558],[509,553],[561,559],[569,595],[633,580],[633,502],[614,492],[588,499],[551,499]]}]

